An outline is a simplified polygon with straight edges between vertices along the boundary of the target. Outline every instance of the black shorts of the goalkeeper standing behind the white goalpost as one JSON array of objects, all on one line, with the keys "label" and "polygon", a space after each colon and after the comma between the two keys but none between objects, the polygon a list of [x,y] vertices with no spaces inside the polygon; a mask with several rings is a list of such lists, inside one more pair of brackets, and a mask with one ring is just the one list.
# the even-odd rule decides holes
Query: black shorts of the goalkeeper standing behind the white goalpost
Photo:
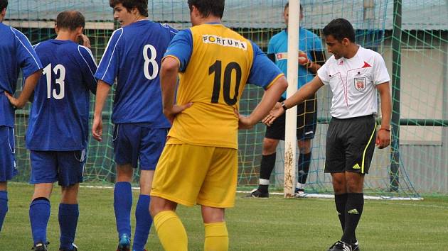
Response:
[{"label": "black shorts of the goalkeeper standing behind the white goalpost", "polygon": [[[284,101],[280,98],[279,102]],[[284,140],[285,113],[279,116],[271,126],[266,127],[265,138]],[[316,94],[309,96],[297,106],[297,140],[311,140],[316,133],[317,101]]]}]

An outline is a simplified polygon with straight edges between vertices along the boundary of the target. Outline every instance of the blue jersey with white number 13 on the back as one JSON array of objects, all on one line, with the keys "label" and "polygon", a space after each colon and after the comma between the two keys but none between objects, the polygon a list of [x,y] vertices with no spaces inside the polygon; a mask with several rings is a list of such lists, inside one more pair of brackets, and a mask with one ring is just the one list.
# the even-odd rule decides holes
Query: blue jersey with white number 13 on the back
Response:
[{"label": "blue jersey with white number 13 on the back", "polygon": [[74,151],[87,147],[90,91],[97,65],[92,52],[71,40],[35,45],[44,66],[34,91],[26,133],[30,150]]}]

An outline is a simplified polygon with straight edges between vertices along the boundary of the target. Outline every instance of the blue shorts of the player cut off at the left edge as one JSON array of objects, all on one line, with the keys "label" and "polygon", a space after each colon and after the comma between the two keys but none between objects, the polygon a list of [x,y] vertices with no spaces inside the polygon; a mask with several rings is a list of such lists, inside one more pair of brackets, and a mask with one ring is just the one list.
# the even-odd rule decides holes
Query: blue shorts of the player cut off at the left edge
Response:
[{"label": "blue shorts of the player cut off at the left edge", "polygon": [[9,181],[17,174],[14,147],[14,128],[0,126],[0,182]]}]

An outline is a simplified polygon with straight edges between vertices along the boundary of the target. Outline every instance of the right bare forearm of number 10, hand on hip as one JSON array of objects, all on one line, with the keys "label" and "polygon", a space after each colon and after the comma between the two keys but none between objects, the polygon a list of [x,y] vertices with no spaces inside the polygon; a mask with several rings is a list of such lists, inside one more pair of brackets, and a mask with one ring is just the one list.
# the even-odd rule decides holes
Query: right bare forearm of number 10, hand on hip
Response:
[{"label": "right bare forearm of number 10, hand on hip", "polygon": [[250,116],[245,117],[239,115],[240,120],[238,127],[240,129],[249,129],[262,118],[265,118],[267,113],[272,109],[277,100],[279,100],[280,96],[282,96],[282,93],[287,89],[287,87],[287,79],[284,76],[279,77],[279,79],[277,79],[271,87],[265,91],[260,104],[255,107],[254,111],[250,113]]}]

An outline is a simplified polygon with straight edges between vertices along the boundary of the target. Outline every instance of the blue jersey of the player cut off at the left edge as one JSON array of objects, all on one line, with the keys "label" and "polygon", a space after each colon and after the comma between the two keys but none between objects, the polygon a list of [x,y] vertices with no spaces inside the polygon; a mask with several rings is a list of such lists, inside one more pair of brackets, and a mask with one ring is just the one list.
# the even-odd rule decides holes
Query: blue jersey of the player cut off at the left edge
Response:
[{"label": "blue jersey of the player cut off at the left edge", "polygon": [[25,35],[0,23],[0,126],[14,127],[14,107],[4,92],[14,94],[22,69],[23,79],[42,69],[41,61]]}]

